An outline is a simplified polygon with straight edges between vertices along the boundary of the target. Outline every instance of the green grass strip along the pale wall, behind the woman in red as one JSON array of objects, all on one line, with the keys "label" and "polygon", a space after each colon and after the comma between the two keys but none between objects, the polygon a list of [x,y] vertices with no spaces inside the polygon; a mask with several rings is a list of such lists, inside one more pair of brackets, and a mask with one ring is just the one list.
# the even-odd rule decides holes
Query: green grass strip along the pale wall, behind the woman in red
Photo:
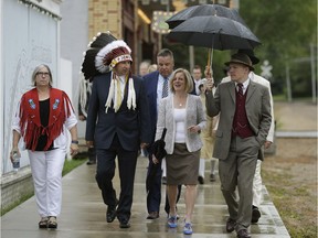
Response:
[{"label": "green grass strip along the pale wall, behind the woman in red", "polygon": [[[62,171],[62,176],[70,173],[72,170],[76,169],[77,166],[82,165],[86,161],[86,158],[78,158],[77,160],[65,160],[64,167]],[[7,208],[1,208],[1,216],[3,216],[6,213],[10,212],[14,207],[19,206],[20,204],[28,201],[30,197],[32,197],[34,193],[23,194],[19,201],[13,203],[11,206],[8,206]]]}]

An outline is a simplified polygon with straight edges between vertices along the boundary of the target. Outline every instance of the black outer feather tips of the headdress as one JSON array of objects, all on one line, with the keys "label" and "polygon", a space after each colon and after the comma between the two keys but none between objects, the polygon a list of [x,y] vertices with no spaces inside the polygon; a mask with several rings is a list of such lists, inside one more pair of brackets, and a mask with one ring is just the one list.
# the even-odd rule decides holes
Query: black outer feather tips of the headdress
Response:
[{"label": "black outer feather tips of the headdress", "polygon": [[110,32],[98,33],[93,41],[88,44],[88,50],[84,52],[84,58],[82,63],[82,73],[85,79],[92,79],[94,76],[100,74],[95,67],[95,57],[97,53],[107,44],[117,39],[112,35]]}]

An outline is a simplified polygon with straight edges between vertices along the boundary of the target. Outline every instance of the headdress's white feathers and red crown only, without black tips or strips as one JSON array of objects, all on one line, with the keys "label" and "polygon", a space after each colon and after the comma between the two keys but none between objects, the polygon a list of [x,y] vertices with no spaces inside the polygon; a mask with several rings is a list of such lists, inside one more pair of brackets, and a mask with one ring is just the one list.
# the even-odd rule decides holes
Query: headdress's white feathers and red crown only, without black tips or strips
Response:
[{"label": "headdress's white feathers and red crown only, without black tips or strips", "polygon": [[96,55],[95,66],[100,73],[112,71],[119,62],[130,61],[131,50],[123,40],[113,41]]}]

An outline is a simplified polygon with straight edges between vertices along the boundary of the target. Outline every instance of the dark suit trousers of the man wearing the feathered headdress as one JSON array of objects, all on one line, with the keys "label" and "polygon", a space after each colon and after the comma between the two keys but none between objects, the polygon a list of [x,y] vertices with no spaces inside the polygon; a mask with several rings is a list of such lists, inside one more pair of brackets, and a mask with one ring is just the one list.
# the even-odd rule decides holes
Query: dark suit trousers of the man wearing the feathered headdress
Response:
[{"label": "dark suit trousers of the man wearing the feathered headdress", "polygon": [[102,191],[103,201],[106,205],[116,205],[116,191],[113,186],[116,163],[118,159],[118,171],[120,178],[120,195],[117,207],[117,218],[129,220],[131,214],[134,181],[138,150],[126,151],[120,145],[118,137],[115,136],[109,149],[96,149],[97,172],[96,181]]}]

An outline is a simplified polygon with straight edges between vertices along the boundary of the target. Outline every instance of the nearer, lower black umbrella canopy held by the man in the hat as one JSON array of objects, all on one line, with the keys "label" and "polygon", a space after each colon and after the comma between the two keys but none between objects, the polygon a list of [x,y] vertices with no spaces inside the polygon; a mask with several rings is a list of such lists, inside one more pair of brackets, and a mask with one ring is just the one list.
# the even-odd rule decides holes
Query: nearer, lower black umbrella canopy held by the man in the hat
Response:
[{"label": "nearer, lower black umbrella canopy held by the man in the hat", "polygon": [[170,31],[170,41],[215,50],[251,48],[259,45],[253,32],[237,21],[209,15],[193,17]]}]

